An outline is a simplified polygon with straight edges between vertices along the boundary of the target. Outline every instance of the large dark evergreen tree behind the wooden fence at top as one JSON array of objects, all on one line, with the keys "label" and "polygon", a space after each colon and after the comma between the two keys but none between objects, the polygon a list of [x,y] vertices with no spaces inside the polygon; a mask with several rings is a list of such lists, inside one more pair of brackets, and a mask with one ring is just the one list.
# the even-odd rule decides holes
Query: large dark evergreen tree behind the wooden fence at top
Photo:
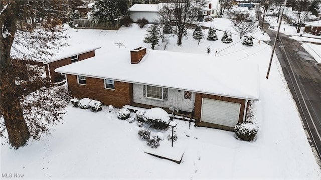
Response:
[{"label": "large dark evergreen tree behind the wooden fence at top", "polygon": [[119,16],[129,14],[128,1],[97,1],[91,10],[91,21],[93,23],[105,23],[114,21]]}]

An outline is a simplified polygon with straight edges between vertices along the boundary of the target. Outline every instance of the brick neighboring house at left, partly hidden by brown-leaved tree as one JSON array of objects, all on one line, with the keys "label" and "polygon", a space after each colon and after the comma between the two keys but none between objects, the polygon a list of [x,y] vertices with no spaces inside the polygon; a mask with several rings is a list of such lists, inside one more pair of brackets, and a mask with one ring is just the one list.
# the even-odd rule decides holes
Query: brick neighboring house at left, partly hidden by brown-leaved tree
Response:
[{"label": "brick neighboring house at left, partly hidden by brown-leaved tree", "polygon": [[55,50],[56,52],[52,57],[36,61],[14,60],[13,64],[17,65],[17,63],[19,63],[19,67],[24,68],[28,68],[28,65],[37,65],[43,67],[44,76],[47,77],[53,84],[65,79],[64,75],[54,71],[56,68],[94,57],[95,50],[99,48],[100,47],[86,44],[69,45],[67,47],[62,47],[60,50]]}]

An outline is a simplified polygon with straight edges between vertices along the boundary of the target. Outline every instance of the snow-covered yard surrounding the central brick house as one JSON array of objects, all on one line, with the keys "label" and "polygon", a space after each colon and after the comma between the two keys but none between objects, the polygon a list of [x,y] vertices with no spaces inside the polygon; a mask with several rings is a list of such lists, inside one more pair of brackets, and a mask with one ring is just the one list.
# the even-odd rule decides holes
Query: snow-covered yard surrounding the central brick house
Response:
[{"label": "snow-covered yard surrounding the central brick house", "polygon": [[[230,25],[226,19],[216,19],[215,23],[216,27]],[[146,28],[139,29],[135,24],[118,31],[66,28],[65,33],[70,36],[70,44],[100,46],[97,56],[119,48],[127,49],[129,56],[131,49],[151,47],[142,42]],[[183,38],[182,46],[176,45],[176,37],[170,37],[166,51],[205,54],[213,57],[213,61],[259,65],[260,100],[253,105],[259,131],[254,142],[237,140],[230,131],[193,124],[189,128],[188,122],[176,120],[178,140],[174,142],[174,149],[185,147],[182,163],[177,164],[144,153],[149,147],[138,137],[141,128],[136,122],[117,119],[115,113],[108,112],[107,106],[94,113],[69,104],[63,124],[55,126],[52,135],[30,141],[18,150],[10,149],[7,143],[1,145],[2,178],[23,174],[26,179],[320,179],[320,168],[275,55],[269,79],[265,78],[271,54],[271,46],[262,42],[269,40],[267,34],[256,31],[252,35],[254,45],[247,47],[237,35],[232,35],[232,43],[222,43],[220,31],[218,41],[203,39],[198,45],[191,33]],[[207,47],[211,48],[210,54]],[[164,46],[155,49],[164,51]],[[217,56],[215,51],[219,52]],[[108,68],[121,67],[106,67],[106,70]],[[157,132],[152,130],[152,134]],[[161,132],[165,139],[159,148],[171,149],[171,142],[167,140],[171,129]]]}]

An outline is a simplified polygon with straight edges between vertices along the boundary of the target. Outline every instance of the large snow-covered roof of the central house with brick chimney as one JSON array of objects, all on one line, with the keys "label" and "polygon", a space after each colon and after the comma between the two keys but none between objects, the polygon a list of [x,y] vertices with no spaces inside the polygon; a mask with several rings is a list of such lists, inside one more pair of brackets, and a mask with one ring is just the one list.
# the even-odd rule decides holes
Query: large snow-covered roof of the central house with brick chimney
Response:
[{"label": "large snow-covered roof of the central house with brick chimney", "polygon": [[[108,56],[106,56],[108,54]],[[258,66],[215,61],[209,55],[146,50],[138,64],[128,49],[57,68],[63,74],[113,79],[241,99],[259,99]]]}]

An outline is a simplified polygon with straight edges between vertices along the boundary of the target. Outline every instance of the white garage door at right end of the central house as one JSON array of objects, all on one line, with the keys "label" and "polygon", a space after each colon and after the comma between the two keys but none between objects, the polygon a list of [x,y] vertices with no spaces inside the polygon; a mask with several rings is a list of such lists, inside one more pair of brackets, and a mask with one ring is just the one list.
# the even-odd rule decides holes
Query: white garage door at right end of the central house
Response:
[{"label": "white garage door at right end of the central house", "polygon": [[241,104],[203,98],[201,122],[234,127],[239,120]]}]

